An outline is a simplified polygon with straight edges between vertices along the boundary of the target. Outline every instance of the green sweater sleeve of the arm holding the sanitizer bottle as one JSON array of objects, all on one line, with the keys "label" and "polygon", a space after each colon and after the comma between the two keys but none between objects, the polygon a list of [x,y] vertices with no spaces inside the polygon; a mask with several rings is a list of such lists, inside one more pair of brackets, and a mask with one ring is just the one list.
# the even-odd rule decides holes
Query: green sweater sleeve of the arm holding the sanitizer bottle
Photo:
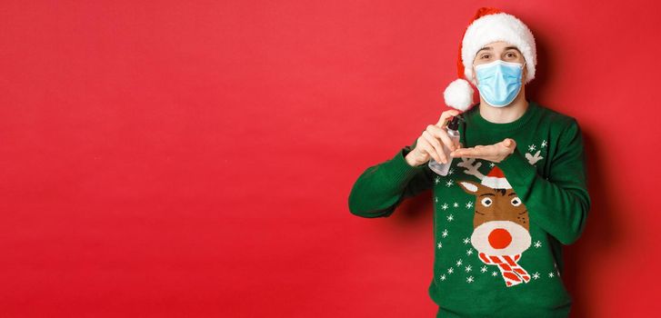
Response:
[{"label": "green sweater sleeve of the arm holding the sanitizer bottle", "polygon": [[416,143],[400,149],[395,157],[367,168],[358,177],[349,194],[351,214],[387,217],[406,198],[432,187],[434,173],[426,164],[414,167],[406,163],[406,154],[415,146]]}]

